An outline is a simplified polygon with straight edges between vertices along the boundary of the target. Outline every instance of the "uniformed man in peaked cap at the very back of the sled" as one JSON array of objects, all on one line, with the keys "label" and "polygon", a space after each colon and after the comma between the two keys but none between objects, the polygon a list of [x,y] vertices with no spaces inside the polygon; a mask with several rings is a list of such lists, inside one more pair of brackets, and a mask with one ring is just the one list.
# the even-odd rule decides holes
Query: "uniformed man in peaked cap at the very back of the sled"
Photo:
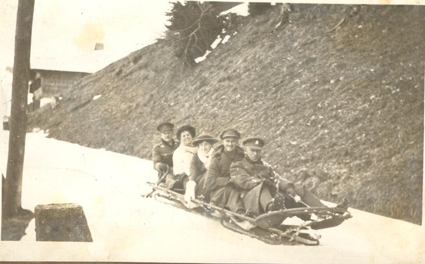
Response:
[{"label": "uniformed man in peaked cap at the very back of the sled", "polygon": [[154,169],[158,171],[158,177],[164,173],[172,173],[173,153],[179,146],[179,142],[173,139],[174,125],[164,122],[158,125],[157,130],[161,133],[161,142],[156,144],[152,150]]}]

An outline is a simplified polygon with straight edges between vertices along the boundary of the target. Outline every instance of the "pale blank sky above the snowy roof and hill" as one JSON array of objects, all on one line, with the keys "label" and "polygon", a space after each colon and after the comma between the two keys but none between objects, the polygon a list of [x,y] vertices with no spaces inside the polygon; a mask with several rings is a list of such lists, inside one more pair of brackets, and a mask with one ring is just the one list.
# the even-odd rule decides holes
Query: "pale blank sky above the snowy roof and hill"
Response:
[{"label": "pale blank sky above the snowy roof and hill", "polygon": [[[161,36],[169,8],[168,1],[37,0],[32,58],[73,56],[100,42],[108,57],[119,59]],[[16,0],[0,4],[2,70],[13,65],[16,11]]]}]

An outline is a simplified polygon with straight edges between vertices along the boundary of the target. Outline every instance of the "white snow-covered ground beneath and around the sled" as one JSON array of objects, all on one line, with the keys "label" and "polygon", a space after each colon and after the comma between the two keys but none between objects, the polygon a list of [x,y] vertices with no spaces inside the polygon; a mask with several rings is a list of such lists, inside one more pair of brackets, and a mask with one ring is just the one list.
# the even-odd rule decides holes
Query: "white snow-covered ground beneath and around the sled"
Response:
[{"label": "white snow-covered ground beneath and around the sled", "polygon": [[[6,172],[8,132],[0,133]],[[320,246],[274,246],[236,234],[215,220],[141,198],[155,179],[150,161],[26,136],[22,206],[78,203],[93,243],[36,242],[34,219],[20,242],[0,242],[1,260],[161,262],[420,263],[419,225],[350,209],[353,218],[317,232]]]}]

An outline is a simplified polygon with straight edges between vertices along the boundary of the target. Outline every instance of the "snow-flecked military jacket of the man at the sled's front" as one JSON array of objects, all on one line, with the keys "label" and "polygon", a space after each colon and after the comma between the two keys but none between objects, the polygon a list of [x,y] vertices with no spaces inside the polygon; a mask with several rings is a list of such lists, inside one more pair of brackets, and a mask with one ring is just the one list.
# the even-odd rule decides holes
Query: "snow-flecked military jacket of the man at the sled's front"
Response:
[{"label": "snow-flecked military jacket of the man at the sled's front", "polygon": [[[242,190],[249,191],[262,183],[264,180],[270,185],[285,190],[286,187],[292,186],[292,182],[279,177],[275,171],[267,163],[259,160],[252,161],[248,156],[241,160],[237,160],[230,165],[231,182]],[[242,193],[246,193],[243,192]]]}]

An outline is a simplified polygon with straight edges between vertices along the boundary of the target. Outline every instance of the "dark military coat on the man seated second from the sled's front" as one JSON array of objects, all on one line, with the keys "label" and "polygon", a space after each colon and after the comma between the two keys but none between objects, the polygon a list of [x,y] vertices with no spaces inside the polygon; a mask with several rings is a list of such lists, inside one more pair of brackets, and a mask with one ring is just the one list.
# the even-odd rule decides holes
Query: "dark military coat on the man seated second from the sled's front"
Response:
[{"label": "dark military coat on the man seated second from the sled's front", "polygon": [[235,157],[230,157],[224,150],[224,145],[218,146],[211,157],[211,163],[206,172],[204,191],[215,191],[225,187],[230,180],[230,164],[234,160],[244,158],[244,149],[236,146]]}]

